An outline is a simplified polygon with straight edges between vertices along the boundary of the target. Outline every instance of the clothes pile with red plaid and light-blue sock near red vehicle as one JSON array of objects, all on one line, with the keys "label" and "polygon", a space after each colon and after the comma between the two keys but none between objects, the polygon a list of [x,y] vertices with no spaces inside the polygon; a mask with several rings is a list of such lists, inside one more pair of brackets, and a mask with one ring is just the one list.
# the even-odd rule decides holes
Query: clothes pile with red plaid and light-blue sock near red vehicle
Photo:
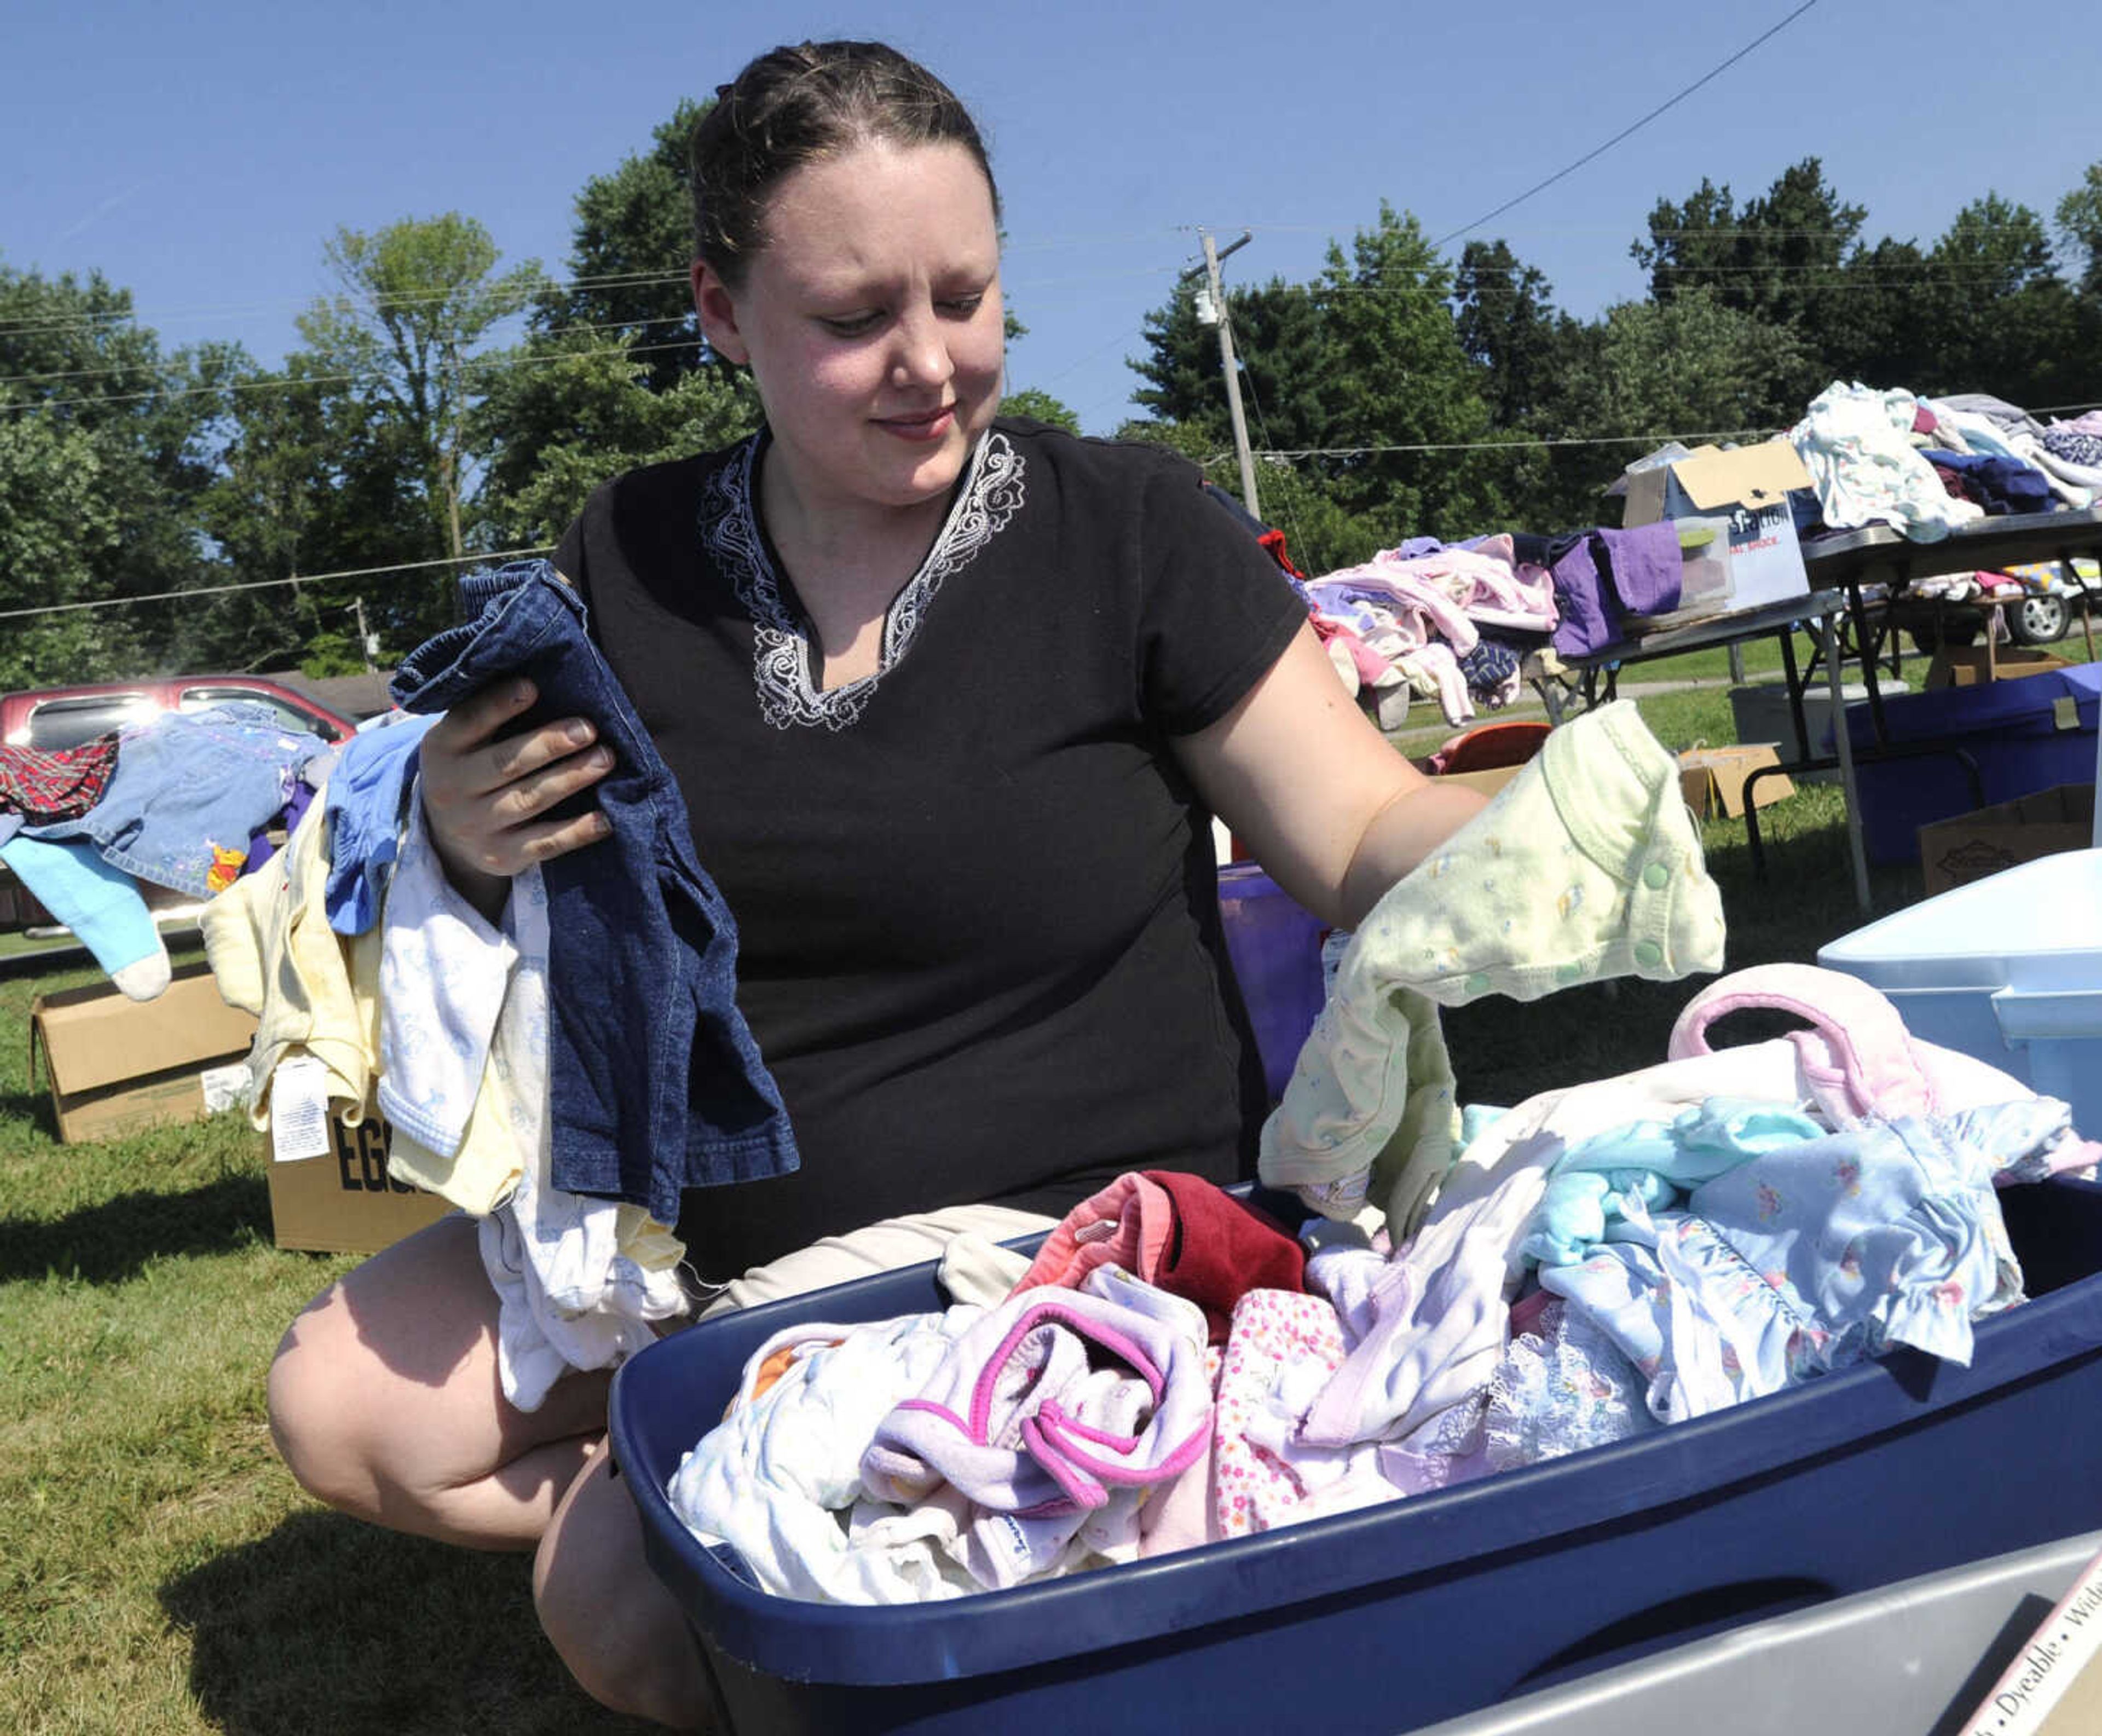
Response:
[{"label": "clothes pile with red plaid and light-blue sock near red vehicle", "polygon": [[0,746],[0,862],[124,994],[151,1000],[170,967],[143,887],[206,900],[252,874],[334,752],[246,700],[69,748]]}]

